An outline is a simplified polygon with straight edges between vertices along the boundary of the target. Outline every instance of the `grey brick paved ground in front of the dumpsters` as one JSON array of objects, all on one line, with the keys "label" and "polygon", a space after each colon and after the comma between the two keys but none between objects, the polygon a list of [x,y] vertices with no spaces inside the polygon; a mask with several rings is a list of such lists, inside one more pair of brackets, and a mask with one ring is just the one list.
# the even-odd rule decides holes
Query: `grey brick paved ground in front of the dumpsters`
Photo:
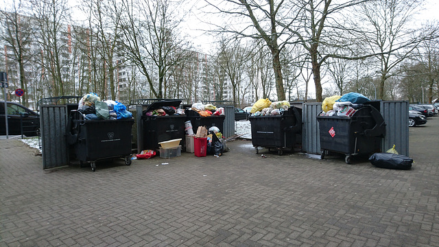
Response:
[{"label": "grey brick paved ground in front of the dumpsters", "polygon": [[250,141],[220,158],[43,171],[1,139],[0,246],[439,246],[438,127],[410,128],[409,171]]}]

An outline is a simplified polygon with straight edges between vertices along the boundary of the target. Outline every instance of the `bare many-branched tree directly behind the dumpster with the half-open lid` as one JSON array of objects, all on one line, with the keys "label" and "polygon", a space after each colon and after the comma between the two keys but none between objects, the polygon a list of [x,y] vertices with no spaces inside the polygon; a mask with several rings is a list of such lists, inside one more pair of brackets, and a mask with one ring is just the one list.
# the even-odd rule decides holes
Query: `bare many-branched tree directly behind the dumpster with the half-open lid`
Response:
[{"label": "bare many-branched tree directly behind the dumpster with the half-open lid", "polygon": [[163,98],[166,73],[187,55],[185,43],[178,36],[182,21],[175,13],[178,5],[169,0],[124,0],[121,8],[126,57],[145,75],[154,97]]}]

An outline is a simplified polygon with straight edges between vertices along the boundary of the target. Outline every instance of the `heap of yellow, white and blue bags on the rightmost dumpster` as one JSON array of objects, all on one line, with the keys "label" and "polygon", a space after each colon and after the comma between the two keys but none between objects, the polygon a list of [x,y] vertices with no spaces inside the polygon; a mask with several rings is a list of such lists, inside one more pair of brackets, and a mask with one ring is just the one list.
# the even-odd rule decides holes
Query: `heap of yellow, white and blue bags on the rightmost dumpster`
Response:
[{"label": "heap of yellow, white and blue bags on the rightmost dumpster", "polygon": [[322,113],[319,116],[351,117],[356,110],[370,101],[361,93],[346,93],[343,96],[326,97],[322,102]]}]

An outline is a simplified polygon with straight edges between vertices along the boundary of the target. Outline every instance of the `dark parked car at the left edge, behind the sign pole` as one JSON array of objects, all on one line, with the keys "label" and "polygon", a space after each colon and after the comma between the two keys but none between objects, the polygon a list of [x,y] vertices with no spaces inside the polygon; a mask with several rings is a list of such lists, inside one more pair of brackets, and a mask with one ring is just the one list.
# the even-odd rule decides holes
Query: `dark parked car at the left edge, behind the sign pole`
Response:
[{"label": "dark parked car at the left edge, behind the sign pole", "polygon": [[[40,115],[16,102],[6,102],[8,110],[8,134],[23,134],[34,137],[40,131]],[[6,134],[5,102],[0,101],[0,135]]]}]

